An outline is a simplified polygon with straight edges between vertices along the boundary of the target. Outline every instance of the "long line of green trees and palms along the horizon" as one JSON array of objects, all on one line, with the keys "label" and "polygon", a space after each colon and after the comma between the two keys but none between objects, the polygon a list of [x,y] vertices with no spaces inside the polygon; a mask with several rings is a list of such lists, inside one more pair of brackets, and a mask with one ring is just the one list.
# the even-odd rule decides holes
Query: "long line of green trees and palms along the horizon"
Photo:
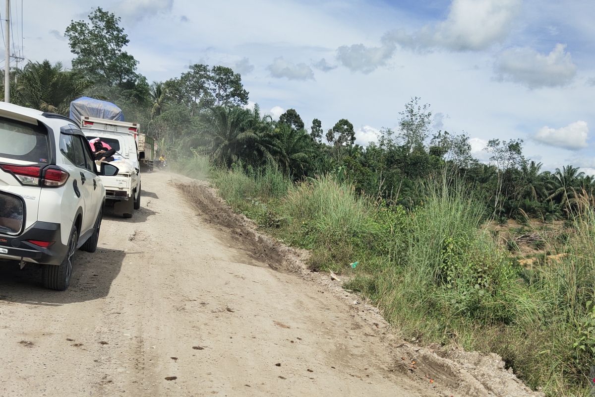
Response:
[{"label": "long line of green trees and palms along the horizon", "polygon": [[11,101],[61,114],[82,95],[115,102],[170,158],[203,154],[220,167],[252,170],[272,165],[293,180],[331,173],[379,204],[405,207],[418,204],[421,181],[448,168],[502,221],[564,217],[577,192],[595,187],[593,176],[572,165],[544,171],[523,155],[520,139],[491,139],[490,162],[477,160],[469,136],[433,129],[430,105],[417,97],[399,113],[396,130],[382,129],[377,142],[363,147],[347,118],[324,131],[318,118],[305,126],[295,109],[275,121],[258,105],[246,107],[249,92],[229,67],[194,64],[178,77],[149,83],[125,51],[129,39],[120,18],[100,7],[88,20],[71,21],[65,37],[74,54],[71,70],[47,60],[11,70]]}]

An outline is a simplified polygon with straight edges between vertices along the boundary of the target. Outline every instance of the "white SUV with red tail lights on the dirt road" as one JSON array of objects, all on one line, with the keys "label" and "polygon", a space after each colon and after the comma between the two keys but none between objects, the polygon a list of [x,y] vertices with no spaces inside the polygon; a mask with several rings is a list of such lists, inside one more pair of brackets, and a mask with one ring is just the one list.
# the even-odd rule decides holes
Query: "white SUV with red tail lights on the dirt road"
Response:
[{"label": "white SUV with red tail lights on the dirt road", "polygon": [[77,248],[97,248],[105,188],[70,118],[0,102],[0,261],[43,265],[43,285],[65,290]]}]

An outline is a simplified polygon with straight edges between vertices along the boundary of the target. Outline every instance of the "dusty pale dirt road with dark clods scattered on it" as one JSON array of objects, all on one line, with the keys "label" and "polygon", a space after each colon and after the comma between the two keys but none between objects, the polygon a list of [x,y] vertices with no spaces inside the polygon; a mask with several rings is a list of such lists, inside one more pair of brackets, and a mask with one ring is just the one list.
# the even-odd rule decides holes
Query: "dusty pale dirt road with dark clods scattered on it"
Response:
[{"label": "dusty pale dirt road with dark clods scattered on it", "polygon": [[170,179],[143,175],[141,210],[105,216],[67,292],[0,268],[0,396],[449,395],[394,370],[345,301],[273,270]]}]

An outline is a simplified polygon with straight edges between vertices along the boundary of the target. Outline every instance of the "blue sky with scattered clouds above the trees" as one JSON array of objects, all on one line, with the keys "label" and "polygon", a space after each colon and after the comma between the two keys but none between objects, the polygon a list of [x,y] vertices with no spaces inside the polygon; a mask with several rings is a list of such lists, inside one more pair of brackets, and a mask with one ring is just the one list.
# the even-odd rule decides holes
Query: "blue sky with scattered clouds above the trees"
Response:
[{"label": "blue sky with scattered clouds above the trees", "polygon": [[99,6],[121,17],[149,82],[226,65],[250,105],[294,108],[308,127],[347,118],[361,145],[397,130],[418,96],[482,161],[487,140],[520,138],[544,170],[595,174],[593,0],[21,1],[15,46],[29,60],[69,67],[64,30]]}]

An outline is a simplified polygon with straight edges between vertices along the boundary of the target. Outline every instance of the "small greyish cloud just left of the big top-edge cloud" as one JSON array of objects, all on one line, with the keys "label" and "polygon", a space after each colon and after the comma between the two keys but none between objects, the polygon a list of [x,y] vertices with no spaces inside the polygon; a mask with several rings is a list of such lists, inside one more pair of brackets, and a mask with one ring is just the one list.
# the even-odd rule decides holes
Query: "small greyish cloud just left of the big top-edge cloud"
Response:
[{"label": "small greyish cloud just left of the big top-edge cloud", "polygon": [[395,49],[394,44],[386,42],[380,47],[367,47],[363,44],[343,45],[337,49],[337,61],[351,71],[368,74],[386,65]]}]

